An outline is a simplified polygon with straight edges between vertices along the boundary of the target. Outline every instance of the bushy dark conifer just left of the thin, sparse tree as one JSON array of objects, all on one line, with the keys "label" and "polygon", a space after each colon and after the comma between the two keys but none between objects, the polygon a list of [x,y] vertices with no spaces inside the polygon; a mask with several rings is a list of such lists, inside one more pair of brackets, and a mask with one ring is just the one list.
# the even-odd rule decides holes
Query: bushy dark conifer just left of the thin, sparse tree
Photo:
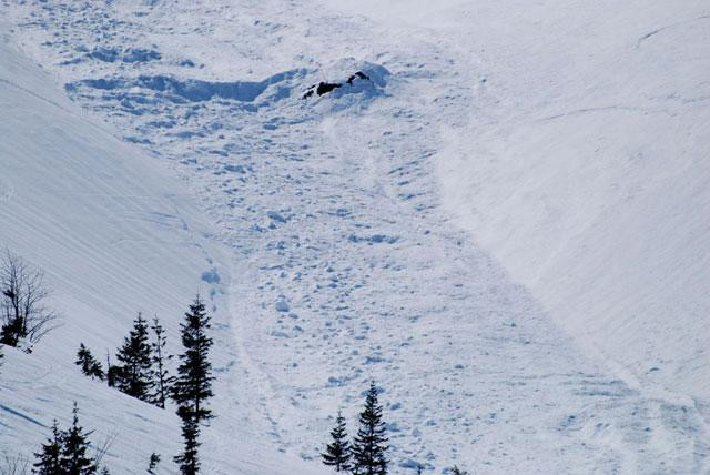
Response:
[{"label": "bushy dark conifer just left of the thin, sparse tree", "polygon": [[148,323],[139,312],[133,321],[133,330],[123,340],[116,358],[122,363],[115,380],[116,387],[141,401],[150,400],[151,378],[151,345],[148,340]]}]

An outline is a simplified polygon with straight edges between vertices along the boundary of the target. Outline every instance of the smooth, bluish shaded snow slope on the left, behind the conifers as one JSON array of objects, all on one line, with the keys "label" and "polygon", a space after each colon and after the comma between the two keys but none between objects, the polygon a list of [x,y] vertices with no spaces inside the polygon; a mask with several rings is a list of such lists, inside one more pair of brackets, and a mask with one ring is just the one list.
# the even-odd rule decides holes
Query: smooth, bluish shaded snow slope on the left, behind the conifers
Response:
[{"label": "smooth, bluish shaded snow slope on the left, behind the conifers", "polygon": [[[139,310],[160,314],[175,351],[178,323],[197,290],[214,305],[216,341],[223,343],[221,333],[229,330],[220,331],[225,326],[221,293],[229,267],[209,243],[210,226],[179,180],[91,124],[6,41],[0,108],[0,245],[45,270],[52,304],[63,314],[63,325],[33,354],[4,348],[0,452],[31,457],[52,418],[70,423],[77,401],[97,445],[115,437],[104,459],[112,473],[143,472],[152,452],[162,455],[163,473],[173,473],[170,458],[181,446],[172,411],[88,380],[73,361],[80,342],[99,356],[113,352]],[[202,272],[216,273],[222,284],[201,281]],[[224,344],[215,351],[216,392],[223,397],[214,408],[222,421],[205,429],[205,469],[293,473],[297,461],[261,446],[230,416],[229,353]],[[231,437],[239,445],[230,444]]]}]

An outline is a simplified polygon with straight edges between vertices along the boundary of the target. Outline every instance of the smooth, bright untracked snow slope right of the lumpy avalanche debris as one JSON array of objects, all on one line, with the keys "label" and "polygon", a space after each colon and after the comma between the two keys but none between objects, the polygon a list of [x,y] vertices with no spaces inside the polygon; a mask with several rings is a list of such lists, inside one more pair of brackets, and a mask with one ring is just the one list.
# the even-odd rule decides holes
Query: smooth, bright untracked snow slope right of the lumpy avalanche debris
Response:
[{"label": "smooth, bright untracked snow slope right of the lumpy avalanche debris", "polygon": [[458,223],[612,368],[707,404],[708,3],[346,4],[469,82],[437,159]]}]

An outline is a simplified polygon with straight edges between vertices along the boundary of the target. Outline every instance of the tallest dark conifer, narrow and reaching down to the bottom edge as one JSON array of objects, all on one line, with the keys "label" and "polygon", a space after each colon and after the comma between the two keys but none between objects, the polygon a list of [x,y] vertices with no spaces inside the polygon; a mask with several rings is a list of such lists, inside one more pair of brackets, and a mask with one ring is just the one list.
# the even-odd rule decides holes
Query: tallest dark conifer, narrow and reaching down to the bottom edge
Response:
[{"label": "tallest dark conifer, narrow and reaching down to the bottom edge", "polygon": [[200,471],[197,447],[200,423],[212,418],[212,411],[205,404],[212,397],[212,364],[207,356],[212,338],[206,335],[210,316],[205,312],[200,295],[185,313],[185,322],[180,325],[184,353],[180,355],[178,377],[172,388],[173,401],[178,404],[178,415],[183,422],[182,435],[185,441],[183,454],[174,457],[183,475],[194,475]]}]

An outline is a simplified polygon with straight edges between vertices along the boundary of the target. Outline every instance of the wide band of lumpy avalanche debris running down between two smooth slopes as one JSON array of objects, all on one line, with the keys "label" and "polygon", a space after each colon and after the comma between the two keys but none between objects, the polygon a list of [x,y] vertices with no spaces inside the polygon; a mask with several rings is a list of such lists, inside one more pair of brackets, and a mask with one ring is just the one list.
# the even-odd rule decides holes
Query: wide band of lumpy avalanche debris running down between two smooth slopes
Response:
[{"label": "wide band of lumpy avalanche debris running down between two smooth slopes", "polygon": [[[220,377],[239,415],[207,433],[220,454],[239,444],[219,432],[235,424],[315,459],[336,410],[354,421],[375,378],[397,471],[708,469],[693,406],[586,358],[442,213],[427,103],[454,127],[479,87],[462,88],[444,46],[372,39],[371,63],[338,61],[368,22],[282,1],[4,10],[74,101],[184,179],[217,223],[206,238],[231,250],[235,343],[221,336],[234,347]],[[300,99],[361,69],[386,85]]]}]

